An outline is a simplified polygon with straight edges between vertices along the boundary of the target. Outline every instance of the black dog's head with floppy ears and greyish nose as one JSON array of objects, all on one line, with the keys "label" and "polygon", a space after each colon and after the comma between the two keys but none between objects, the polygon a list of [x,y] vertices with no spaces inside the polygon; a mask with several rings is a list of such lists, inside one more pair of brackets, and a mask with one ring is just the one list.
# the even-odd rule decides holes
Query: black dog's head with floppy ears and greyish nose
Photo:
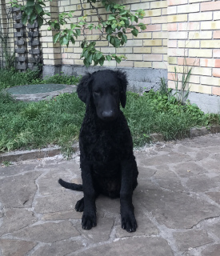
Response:
[{"label": "black dog's head with floppy ears and greyish nose", "polygon": [[126,106],[126,74],[120,70],[100,70],[86,74],[78,84],[78,98],[94,106],[98,118],[112,121],[118,117],[119,104]]}]

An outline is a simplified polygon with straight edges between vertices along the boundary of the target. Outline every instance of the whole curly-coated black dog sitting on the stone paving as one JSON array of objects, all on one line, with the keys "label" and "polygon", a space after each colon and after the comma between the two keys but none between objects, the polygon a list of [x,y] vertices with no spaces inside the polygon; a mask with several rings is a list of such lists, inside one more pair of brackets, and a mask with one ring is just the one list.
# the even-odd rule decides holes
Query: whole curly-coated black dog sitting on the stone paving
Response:
[{"label": "whole curly-coated black dog sitting on the stone paving", "polygon": [[126,118],[120,110],[126,106],[126,75],[121,71],[102,70],[86,74],[78,85],[78,97],[86,103],[86,114],[79,135],[82,185],[59,183],[82,190],[84,198],[75,210],[84,211],[82,228],[96,226],[95,199],[98,194],[120,197],[122,228],[134,232],[132,194],[138,185],[138,168]]}]

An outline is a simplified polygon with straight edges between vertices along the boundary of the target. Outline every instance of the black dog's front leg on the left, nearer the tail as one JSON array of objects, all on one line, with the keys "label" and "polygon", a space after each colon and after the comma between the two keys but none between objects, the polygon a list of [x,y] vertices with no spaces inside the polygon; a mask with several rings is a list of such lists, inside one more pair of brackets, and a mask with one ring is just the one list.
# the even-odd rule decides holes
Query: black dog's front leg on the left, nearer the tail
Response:
[{"label": "black dog's front leg on the left, nearer the tail", "polygon": [[96,226],[95,190],[90,165],[81,163],[82,186],[84,193],[84,212],[82,214],[82,229],[90,230]]}]

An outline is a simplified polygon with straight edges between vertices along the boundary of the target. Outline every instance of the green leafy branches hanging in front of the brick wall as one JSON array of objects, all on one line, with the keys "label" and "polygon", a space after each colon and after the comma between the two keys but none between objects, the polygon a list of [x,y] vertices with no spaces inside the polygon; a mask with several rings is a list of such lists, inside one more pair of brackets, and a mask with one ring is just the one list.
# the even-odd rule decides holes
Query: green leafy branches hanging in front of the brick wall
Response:
[{"label": "green leafy branches hanging in front of the brick wall", "polygon": [[[50,0],[51,2],[52,0]],[[54,43],[60,42],[61,45],[69,46],[70,42],[73,44],[78,39],[78,36],[83,34],[83,41],[81,43],[82,55],[81,58],[86,66],[90,66],[92,62],[94,65],[103,65],[104,61],[110,61],[115,59],[116,62],[121,62],[125,58],[124,55],[116,54],[103,54],[101,51],[95,48],[96,42],[88,42],[86,39],[85,30],[98,30],[100,38],[106,38],[108,42],[115,48],[123,46],[127,42],[126,33],[128,30],[137,37],[138,29],[145,30],[146,25],[138,23],[139,18],[143,18],[145,13],[143,10],[137,10],[135,14],[132,14],[130,10],[126,10],[126,6],[111,2],[110,0],[102,0],[102,5],[105,6],[106,11],[110,13],[108,19],[105,21],[98,14],[98,7],[95,7],[94,4],[98,0],[87,0],[90,3],[92,9],[96,10],[98,15],[98,23],[86,22],[87,15],[84,15],[84,9],[82,7],[82,17],[79,18],[80,22],[70,24],[70,29],[64,28],[63,26],[70,21],[70,18],[73,18],[74,11],[62,12],[58,14],[58,20],[54,20],[50,17],[50,13],[45,12],[43,7],[45,3],[42,0],[27,0],[26,5],[18,5],[18,1],[14,0],[13,6],[20,7],[23,11],[22,14],[22,23],[30,22],[33,24],[37,19],[38,26],[42,26],[43,22],[49,26],[48,30],[56,30],[58,33],[54,34]],[[47,19],[46,19],[47,17]],[[135,25],[134,25],[135,24]]]}]

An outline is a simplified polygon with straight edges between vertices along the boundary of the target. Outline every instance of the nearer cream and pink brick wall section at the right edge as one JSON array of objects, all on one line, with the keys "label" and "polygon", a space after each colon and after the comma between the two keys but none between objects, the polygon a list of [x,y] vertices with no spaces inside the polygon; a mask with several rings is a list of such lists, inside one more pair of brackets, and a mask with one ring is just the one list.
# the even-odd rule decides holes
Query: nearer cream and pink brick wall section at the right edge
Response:
[{"label": "nearer cream and pink brick wall section at the right edge", "polygon": [[190,91],[220,95],[220,1],[167,0],[167,14],[169,86],[192,67]]}]

